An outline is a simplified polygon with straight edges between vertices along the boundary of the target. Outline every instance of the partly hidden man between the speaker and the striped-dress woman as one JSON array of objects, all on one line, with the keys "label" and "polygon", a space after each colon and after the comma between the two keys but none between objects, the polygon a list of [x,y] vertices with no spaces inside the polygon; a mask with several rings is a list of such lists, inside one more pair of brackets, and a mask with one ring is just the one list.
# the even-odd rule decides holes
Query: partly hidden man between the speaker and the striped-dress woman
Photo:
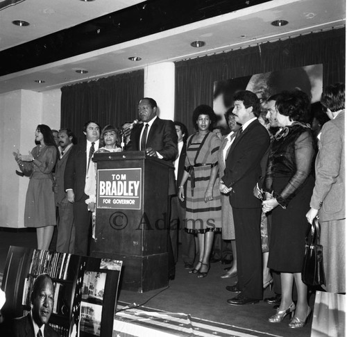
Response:
[{"label": "partly hidden man between the speaker and the striped-dress woman", "polygon": [[[185,269],[194,267],[195,258],[195,240],[192,233],[185,231],[185,199],[183,202],[178,198],[179,183],[182,180],[185,171],[185,157],[187,156],[187,138],[188,130],[185,124],[174,122],[178,138],[178,155],[175,166],[176,195],[171,198],[171,216],[170,216],[170,238],[174,252],[175,262],[177,262],[178,252],[178,231],[180,231],[180,240],[182,242],[182,259],[185,263]],[[187,188],[187,183],[184,188]]]}]

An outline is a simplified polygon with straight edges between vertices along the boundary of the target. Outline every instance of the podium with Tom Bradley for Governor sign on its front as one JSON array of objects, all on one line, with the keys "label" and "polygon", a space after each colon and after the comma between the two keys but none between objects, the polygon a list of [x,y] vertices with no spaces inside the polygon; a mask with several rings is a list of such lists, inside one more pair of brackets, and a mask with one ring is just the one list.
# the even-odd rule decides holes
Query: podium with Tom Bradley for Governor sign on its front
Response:
[{"label": "podium with Tom Bradley for Governor sign on its front", "polygon": [[174,166],[144,151],[94,154],[93,161],[96,224],[90,255],[123,261],[124,290],[167,286],[168,187]]}]

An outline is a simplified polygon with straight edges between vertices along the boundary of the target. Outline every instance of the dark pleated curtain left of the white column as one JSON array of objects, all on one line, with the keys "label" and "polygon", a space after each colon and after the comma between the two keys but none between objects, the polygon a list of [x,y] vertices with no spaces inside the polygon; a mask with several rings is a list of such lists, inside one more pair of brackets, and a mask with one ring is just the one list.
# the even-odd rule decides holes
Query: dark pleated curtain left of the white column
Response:
[{"label": "dark pleated curtain left of the white column", "polygon": [[144,95],[144,71],[110,76],[97,81],[63,87],[61,127],[68,127],[78,141],[84,139],[83,125],[88,120],[117,127],[137,118],[137,104]]}]

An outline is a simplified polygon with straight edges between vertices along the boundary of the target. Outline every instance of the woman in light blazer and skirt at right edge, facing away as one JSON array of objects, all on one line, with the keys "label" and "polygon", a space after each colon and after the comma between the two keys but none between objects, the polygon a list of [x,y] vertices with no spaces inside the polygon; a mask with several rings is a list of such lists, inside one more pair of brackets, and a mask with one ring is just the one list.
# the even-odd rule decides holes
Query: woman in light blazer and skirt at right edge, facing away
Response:
[{"label": "woman in light blazer and skirt at right edge, facing away", "polygon": [[321,104],[330,121],[323,125],[316,157],[316,181],[307,220],[319,215],[321,245],[330,293],[346,293],[345,85],[328,85]]}]

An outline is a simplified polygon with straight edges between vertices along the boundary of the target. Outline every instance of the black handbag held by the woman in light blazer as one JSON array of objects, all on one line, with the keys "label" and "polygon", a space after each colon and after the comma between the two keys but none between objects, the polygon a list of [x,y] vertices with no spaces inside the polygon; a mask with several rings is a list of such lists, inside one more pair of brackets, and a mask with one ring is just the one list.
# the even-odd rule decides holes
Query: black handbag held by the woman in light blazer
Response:
[{"label": "black handbag held by the woman in light blazer", "polygon": [[317,218],[314,218],[306,235],[305,258],[301,273],[301,279],[307,286],[325,285],[323,246],[319,245],[319,237],[319,222]]}]

